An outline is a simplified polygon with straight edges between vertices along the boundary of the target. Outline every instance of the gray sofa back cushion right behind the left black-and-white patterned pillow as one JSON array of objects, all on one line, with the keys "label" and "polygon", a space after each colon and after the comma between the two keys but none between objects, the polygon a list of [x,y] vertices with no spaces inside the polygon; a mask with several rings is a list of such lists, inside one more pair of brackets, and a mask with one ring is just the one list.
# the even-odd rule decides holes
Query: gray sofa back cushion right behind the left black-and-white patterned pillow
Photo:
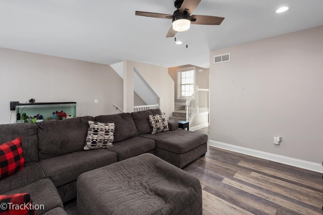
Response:
[{"label": "gray sofa back cushion right behind the left black-and-white patterned pillow", "polygon": [[110,122],[116,124],[115,142],[138,136],[136,125],[132,119],[131,113],[119,113],[112,115],[96,116],[95,121]]}]

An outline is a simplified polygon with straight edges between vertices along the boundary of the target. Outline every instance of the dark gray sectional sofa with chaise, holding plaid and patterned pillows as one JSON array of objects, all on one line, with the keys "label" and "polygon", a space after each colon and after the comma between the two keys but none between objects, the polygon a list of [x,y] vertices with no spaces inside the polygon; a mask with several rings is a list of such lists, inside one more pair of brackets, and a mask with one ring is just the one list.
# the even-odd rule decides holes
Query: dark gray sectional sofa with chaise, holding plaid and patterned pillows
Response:
[{"label": "dark gray sectional sofa with chaise, holding plaid and patterned pillows", "polygon": [[[28,192],[35,204],[44,204],[38,214],[66,214],[63,202],[76,197],[76,180],[82,173],[151,153],[183,168],[205,155],[207,135],[178,129],[151,134],[148,115],[159,109],[101,116],[84,116],[40,123],[0,125],[0,145],[19,136],[25,168],[0,180],[0,195]],[[113,147],[84,150],[88,121],[115,122]]]}]

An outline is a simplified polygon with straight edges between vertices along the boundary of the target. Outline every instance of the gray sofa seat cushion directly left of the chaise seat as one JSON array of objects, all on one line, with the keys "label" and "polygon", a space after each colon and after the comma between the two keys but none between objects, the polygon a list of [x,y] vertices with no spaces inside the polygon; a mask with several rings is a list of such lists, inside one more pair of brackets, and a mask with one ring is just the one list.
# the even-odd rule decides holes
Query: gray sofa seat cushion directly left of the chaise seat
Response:
[{"label": "gray sofa seat cushion directly left of the chaise seat", "polygon": [[111,152],[117,154],[118,161],[122,161],[143,153],[147,153],[156,148],[155,141],[139,136],[115,142],[113,147],[108,148]]}]

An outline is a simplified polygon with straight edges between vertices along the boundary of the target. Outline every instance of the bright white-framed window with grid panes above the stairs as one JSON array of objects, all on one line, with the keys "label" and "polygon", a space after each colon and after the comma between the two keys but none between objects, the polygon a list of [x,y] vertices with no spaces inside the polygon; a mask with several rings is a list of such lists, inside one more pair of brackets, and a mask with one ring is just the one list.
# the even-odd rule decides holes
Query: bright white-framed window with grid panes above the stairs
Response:
[{"label": "bright white-framed window with grid panes above the stairs", "polygon": [[191,97],[195,88],[195,67],[178,69],[178,98]]}]

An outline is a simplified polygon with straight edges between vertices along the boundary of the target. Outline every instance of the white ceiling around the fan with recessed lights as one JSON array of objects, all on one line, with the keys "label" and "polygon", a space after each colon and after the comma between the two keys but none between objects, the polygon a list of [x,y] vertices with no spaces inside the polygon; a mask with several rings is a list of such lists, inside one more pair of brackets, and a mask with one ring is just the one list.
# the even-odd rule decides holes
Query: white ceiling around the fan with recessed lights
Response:
[{"label": "white ceiling around the fan with recessed lights", "polygon": [[[322,0],[202,0],[195,15],[225,17],[166,38],[175,0],[0,0],[0,47],[103,64],[125,59],[209,67],[209,51],[323,25]],[[280,6],[291,9],[276,14]],[[186,48],[188,44],[188,48]]]}]

